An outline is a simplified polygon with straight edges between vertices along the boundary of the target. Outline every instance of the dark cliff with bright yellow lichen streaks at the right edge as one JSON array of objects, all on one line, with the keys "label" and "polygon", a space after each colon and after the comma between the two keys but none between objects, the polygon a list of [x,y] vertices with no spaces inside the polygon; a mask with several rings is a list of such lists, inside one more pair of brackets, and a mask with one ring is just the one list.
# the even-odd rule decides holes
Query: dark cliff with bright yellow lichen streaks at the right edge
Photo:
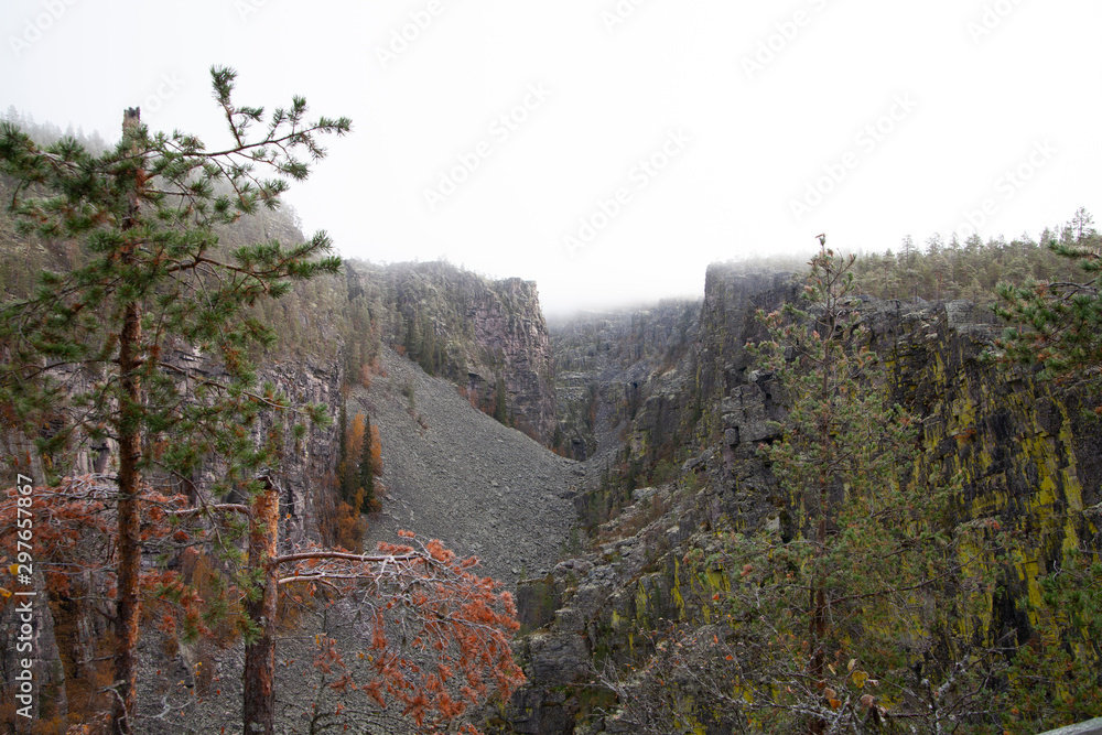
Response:
[{"label": "dark cliff with bright yellow lichen streaks at the right edge", "polygon": [[[982,633],[1027,640],[1037,624],[1040,575],[1074,548],[1100,548],[1102,426],[1080,396],[984,361],[994,327],[968,302],[907,311],[898,302],[869,318],[898,400],[923,418],[919,472],[958,482],[958,522],[994,521],[1008,539],[1002,592],[990,596]],[[1007,561],[1009,560],[1009,561]]]}]

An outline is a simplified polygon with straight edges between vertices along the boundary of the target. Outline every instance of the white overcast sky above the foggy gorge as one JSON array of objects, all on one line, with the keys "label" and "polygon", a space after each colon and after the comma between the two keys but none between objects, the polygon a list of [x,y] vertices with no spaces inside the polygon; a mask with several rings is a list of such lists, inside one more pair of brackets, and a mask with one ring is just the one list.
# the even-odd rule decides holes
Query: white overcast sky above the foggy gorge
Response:
[{"label": "white overcast sky above the foggy gorge", "polygon": [[1102,220],[1100,30],[1099,0],[2,0],[0,111],[114,140],[141,106],[214,147],[233,66],[240,104],[353,118],[288,196],[307,233],[561,313],[699,295],[709,262],[820,231]]}]

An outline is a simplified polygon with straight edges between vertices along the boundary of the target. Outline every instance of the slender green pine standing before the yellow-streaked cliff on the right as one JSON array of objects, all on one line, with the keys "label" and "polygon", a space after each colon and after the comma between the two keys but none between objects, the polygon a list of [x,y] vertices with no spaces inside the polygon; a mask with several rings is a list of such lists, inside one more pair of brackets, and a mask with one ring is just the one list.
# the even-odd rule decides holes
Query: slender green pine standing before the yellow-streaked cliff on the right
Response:
[{"label": "slender green pine standing before the yellow-streaked cliff on the right", "polygon": [[857,732],[886,716],[866,684],[905,683],[900,641],[923,646],[939,625],[930,601],[958,571],[939,533],[947,495],[910,476],[917,424],[892,404],[866,345],[853,262],[822,249],[803,306],[761,315],[770,336],[750,348],[788,396],[782,439],[761,453],[796,514],[791,540],[731,547],[742,566],[732,615],[755,641],[741,685],[773,732],[801,720],[809,733]]}]

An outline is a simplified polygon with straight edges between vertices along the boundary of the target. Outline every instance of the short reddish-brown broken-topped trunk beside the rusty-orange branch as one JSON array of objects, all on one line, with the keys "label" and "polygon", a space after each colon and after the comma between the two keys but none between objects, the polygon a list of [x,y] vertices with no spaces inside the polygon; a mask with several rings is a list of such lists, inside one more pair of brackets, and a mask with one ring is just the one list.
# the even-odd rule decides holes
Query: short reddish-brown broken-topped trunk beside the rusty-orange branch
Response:
[{"label": "short reddish-brown broken-topped trunk beside the rusty-orange branch", "polygon": [[245,647],[245,733],[274,735],[276,691],[276,541],[279,534],[279,490],[269,477],[252,501],[249,516],[249,569],[262,574],[260,595],[246,601],[245,613],[260,635]]}]

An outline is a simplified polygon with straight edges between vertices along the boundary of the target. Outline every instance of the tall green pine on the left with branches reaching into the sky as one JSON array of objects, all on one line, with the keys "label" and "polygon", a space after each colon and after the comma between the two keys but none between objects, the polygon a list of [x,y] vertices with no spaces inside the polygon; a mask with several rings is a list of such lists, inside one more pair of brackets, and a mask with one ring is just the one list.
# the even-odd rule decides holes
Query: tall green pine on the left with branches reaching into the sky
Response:
[{"label": "tall green pine on the left with branches reaching into the sky", "polygon": [[[274,335],[248,310],[341,266],[324,233],[291,247],[218,247],[217,225],[278,207],[288,181],[309,175],[296,156],[321,159],[318,138],[348,132],[350,121],[307,122],[300,97],[266,117],[234,104],[233,69],[210,74],[229,125],[223,150],[181,132],[150,133],[137,109],[126,111],[121,142],[98,156],[72,139],[39,148],[0,123],[0,171],[19,182],[21,231],[83,238],[88,251],[85,266],[44,272],[31,299],[3,306],[10,359],[0,367],[0,401],[29,434],[51,426],[39,442],[47,460],[108,437],[119,445],[116,733],[133,732],[144,488],[161,478],[194,495],[195,471],[217,456],[226,469],[213,490],[222,495],[274,461],[274,447],[257,447],[249,430],[262,411],[290,406],[256,386],[249,350]],[[250,138],[253,126],[263,130]],[[172,360],[182,346],[216,358],[220,376]],[[87,387],[78,378],[90,378]],[[317,407],[309,413],[322,417]]]}]

